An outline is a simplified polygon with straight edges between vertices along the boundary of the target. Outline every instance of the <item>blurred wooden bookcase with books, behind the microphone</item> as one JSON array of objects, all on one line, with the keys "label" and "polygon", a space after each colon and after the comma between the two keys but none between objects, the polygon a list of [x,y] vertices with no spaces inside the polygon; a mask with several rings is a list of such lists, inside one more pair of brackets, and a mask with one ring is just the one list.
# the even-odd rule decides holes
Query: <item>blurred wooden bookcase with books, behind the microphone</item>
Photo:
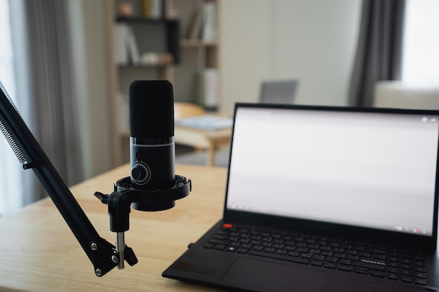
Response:
[{"label": "blurred wooden bookcase with books, behind the microphone", "polygon": [[[132,6],[132,13],[127,14],[132,16],[117,14],[119,13],[117,8],[120,3],[128,3]],[[217,36],[216,21],[218,20],[217,13],[220,11],[217,8],[219,0],[163,0],[163,11],[168,11],[168,13],[163,12],[159,18],[144,16],[142,6],[145,3],[147,1],[114,0],[113,7],[116,9],[111,11],[111,15],[108,15],[111,25],[129,29],[129,34],[131,37],[134,36],[133,39],[136,43],[134,48],[137,47],[137,50],[128,50],[126,52],[128,53],[126,56],[128,60],[125,60],[124,54],[121,54],[121,56],[116,55],[116,57],[121,57],[120,60],[126,61],[115,66],[117,93],[112,99],[115,116],[112,120],[112,127],[116,133],[114,135],[113,153],[117,162],[129,161],[129,144],[126,141],[128,141],[130,131],[126,124],[128,124],[129,116],[128,90],[133,80],[169,80],[173,84],[175,102],[199,102],[201,105],[208,107],[205,105],[204,99],[199,97],[210,93],[210,96],[219,99],[218,90],[213,89],[208,92],[205,89],[207,86],[203,83],[206,82],[205,76],[208,73],[210,73],[209,76],[213,76],[212,71],[216,71],[215,76],[218,76],[220,43],[213,36],[210,38],[213,41],[203,41],[203,39],[189,38],[189,36],[195,35],[201,37],[202,34],[187,35],[186,33],[192,26],[197,13],[203,13],[200,9],[209,4],[210,12],[212,12],[213,4],[215,6],[213,7],[214,17],[212,18],[211,13],[208,15],[210,15],[210,20],[215,20],[215,36]],[[166,5],[169,6],[166,7]],[[170,13],[172,11],[173,13]],[[166,15],[166,17],[162,15]],[[200,24],[202,23],[200,22]],[[209,23],[212,25],[212,22]],[[119,38],[117,34],[115,37],[115,48],[118,48],[117,45],[120,44],[123,46],[123,39]],[[138,54],[136,54],[136,51]],[[119,52],[121,51],[119,50]],[[167,53],[173,56],[173,62],[170,62],[170,59],[166,59],[165,62],[154,62],[156,60],[154,54]],[[143,64],[140,62],[142,55],[144,57]],[[119,59],[116,59],[116,62],[117,60]],[[210,81],[215,81],[215,83],[209,83],[210,88],[219,88],[219,78],[210,78]],[[215,95],[212,95],[212,92],[216,92]]]}]

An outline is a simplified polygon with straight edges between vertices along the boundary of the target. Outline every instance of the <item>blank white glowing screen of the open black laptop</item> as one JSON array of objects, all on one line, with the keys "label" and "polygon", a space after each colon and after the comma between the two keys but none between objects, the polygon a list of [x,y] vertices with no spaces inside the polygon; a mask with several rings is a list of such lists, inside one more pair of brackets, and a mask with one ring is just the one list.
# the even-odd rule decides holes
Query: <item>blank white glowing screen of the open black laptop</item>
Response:
[{"label": "blank white glowing screen of the open black laptop", "polygon": [[238,104],[226,207],[431,236],[433,113]]}]

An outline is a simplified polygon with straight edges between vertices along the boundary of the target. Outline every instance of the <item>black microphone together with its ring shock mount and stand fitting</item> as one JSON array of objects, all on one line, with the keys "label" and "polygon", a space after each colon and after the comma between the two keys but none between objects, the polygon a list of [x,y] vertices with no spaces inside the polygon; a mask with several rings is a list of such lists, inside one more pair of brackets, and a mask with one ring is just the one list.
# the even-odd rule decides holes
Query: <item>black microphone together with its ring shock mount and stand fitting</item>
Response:
[{"label": "black microphone together with its ring shock mount and stand fitting", "polygon": [[[123,269],[124,260],[137,262],[125,244],[130,207],[163,211],[191,192],[191,179],[175,175],[173,85],[163,81],[133,81],[129,88],[130,176],[114,184],[114,192],[95,196],[108,205],[110,230],[116,232],[112,262]],[[127,256],[126,257],[126,253]]]}]

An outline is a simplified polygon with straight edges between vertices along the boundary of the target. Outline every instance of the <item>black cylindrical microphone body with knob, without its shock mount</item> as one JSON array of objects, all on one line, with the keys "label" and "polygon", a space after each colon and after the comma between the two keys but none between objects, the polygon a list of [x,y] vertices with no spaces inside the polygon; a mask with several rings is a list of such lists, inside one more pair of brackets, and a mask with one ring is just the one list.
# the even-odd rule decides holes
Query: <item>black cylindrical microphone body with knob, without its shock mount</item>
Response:
[{"label": "black cylindrical microphone body with knob, without its shock mount", "polygon": [[[130,182],[135,190],[166,190],[175,185],[174,94],[169,81],[133,81],[129,88]],[[175,202],[144,204],[160,211]]]}]

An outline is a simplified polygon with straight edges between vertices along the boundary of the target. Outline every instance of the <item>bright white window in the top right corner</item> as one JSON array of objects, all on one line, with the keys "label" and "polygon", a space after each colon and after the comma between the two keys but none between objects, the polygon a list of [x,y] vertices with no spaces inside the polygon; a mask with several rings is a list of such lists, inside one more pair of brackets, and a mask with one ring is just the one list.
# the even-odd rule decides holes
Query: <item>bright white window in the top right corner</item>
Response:
[{"label": "bright white window in the top right corner", "polygon": [[408,0],[405,10],[403,81],[439,87],[439,1]]}]

